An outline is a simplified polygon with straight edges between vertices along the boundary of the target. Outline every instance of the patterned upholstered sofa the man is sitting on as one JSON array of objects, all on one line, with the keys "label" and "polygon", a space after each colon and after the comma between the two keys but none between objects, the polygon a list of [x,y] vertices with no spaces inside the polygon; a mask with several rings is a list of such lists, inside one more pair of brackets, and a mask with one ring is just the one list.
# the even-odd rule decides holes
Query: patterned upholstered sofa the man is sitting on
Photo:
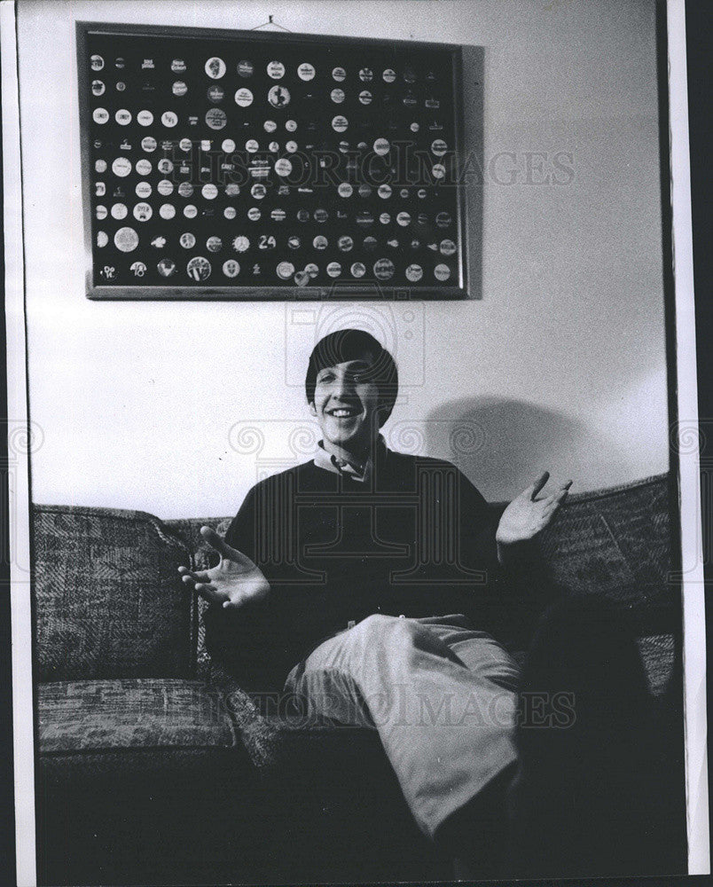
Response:
[{"label": "patterned upholstered sofa the man is sitting on", "polygon": [[[670,874],[686,869],[676,501],[666,475],[573,495],[537,540],[556,596],[635,628]],[[450,879],[373,731],[307,722],[211,662],[176,569],[211,564],[200,526],[228,520],[33,506],[39,883]]]}]

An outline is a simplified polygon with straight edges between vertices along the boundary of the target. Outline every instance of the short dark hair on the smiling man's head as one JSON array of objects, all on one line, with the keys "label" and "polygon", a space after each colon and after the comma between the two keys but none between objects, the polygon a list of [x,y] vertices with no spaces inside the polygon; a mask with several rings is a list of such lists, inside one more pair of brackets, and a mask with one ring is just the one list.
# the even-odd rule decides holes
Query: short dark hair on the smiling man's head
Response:
[{"label": "short dark hair on the smiling man's head", "polygon": [[372,365],[365,374],[371,377],[379,389],[379,427],[384,424],[396,403],[398,392],[398,370],[396,362],[380,342],[364,330],[346,329],[325,335],[320,339],[309,356],[307,377],[304,390],[307,403],[313,404],[317,373],[328,366],[346,363],[364,356],[364,352],[372,355]]}]

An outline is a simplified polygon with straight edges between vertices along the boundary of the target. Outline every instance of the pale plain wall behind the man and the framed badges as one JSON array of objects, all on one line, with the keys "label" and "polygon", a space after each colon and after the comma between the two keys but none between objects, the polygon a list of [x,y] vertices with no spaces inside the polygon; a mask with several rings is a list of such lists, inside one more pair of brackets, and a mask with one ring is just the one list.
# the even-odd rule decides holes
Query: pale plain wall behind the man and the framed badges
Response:
[{"label": "pale plain wall behind the man and the framed badges", "polygon": [[[249,28],[269,13],[294,31],[483,46],[486,164],[574,154],[568,185],[486,177],[482,301],[418,302],[411,319],[394,304],[85,298],[74,21]],[[256,467],[232,426],[262,422],[262,455],[289,458],[315,323],[333,315],[396,341],[395,443],[415,424],[448,456],[450,423],[477,423],[465,467],[488,498],[543,467],[580,491],[668,467],[654,0],[20,0],[19,38],[36,502],[233,513]]]}]

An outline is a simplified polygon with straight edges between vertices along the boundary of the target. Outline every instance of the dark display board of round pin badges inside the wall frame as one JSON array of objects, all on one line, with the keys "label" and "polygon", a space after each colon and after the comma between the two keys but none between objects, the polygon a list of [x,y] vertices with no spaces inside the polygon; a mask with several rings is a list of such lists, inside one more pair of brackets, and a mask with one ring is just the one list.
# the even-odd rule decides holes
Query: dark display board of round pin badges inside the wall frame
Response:
[{"label": "dark display board of round pin badges inside the wall frame", "polygon": [[168,29],[85,54],[94,287],[460,286],[448,49]]}]

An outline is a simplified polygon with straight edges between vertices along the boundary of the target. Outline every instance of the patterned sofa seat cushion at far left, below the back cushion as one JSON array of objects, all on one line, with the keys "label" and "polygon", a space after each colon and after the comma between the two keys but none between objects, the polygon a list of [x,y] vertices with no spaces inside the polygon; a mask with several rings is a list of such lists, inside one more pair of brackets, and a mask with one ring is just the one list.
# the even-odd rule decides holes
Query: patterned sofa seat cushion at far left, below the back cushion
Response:
[{"label": "patterned sofa seat cushion at far left, below the back cushion", "polygon": [[238,744],[223,696],[198,680],[55,681],[37,712],[45,755]]}]

